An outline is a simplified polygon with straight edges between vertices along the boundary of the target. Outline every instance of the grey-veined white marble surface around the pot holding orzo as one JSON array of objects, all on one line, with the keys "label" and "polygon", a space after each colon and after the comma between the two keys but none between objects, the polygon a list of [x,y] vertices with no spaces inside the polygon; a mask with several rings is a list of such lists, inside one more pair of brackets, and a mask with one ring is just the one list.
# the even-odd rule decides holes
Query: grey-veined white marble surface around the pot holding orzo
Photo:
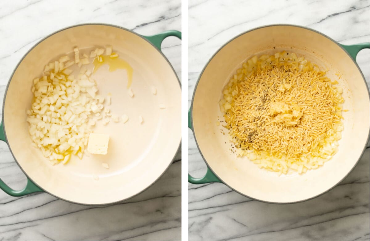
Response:
[{"label": "grey-veined white marble surface around the pot holding orzo", "polygon": [[[343,44],[369,42],[369,1],[189,0],[189,106],[206,62],[226,41],[266,24],[314,28]],[[357,56],[369,83],[369,50]],[[189,172],[206,166],[189,130]],[[266,204],[221,183],[189,184],[189,240],[369,240],[369,148],[328,193],[297,204]]]}]

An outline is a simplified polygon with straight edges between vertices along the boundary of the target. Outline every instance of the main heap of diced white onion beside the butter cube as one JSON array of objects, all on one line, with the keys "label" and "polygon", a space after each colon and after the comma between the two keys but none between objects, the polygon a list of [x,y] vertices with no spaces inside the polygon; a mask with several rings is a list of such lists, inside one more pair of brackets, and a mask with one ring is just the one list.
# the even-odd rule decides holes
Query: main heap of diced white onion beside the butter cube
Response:
[{"label": "main heap of diced white onion beside the butter cube", "polygon": [[75,61],[63,56],[46,65],[45,70],[54,71],[33,80],[33,104],[27,110],[28,132],[52,164],[67,164],[71,155],[83,157],[90,128],[95,125],[88,116],[100,115],[104,109],[104,98],[97,98],[98,88],[90,78],[91,71],[84,69],[77,79],[70,75],[73,71],[68,67],[89,63],[88,58],[80,62],[78,48],[74,54]]}]

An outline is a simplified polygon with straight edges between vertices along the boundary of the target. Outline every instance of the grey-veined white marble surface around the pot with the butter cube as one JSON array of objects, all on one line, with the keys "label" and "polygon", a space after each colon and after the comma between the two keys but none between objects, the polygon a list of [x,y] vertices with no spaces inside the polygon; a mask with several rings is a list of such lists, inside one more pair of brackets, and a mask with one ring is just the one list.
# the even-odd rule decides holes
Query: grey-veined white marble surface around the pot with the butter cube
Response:
[{"label": "grey-veined white marble surface around the pot with the butter cube", "polygon": [[[110,23],[143,35],[181,31],[181,1],[2,1],[0,99],[11,72],[41,38],[67,26]],[[181,76],[181,41],[167,38],[163,52]],[[0,240],[179,240],[181,154],[144,193],[108,207],[71,204],[46,193],[11,197],[0,191]],[[0,178],[14,189],[26,178],[0,143]]]}]

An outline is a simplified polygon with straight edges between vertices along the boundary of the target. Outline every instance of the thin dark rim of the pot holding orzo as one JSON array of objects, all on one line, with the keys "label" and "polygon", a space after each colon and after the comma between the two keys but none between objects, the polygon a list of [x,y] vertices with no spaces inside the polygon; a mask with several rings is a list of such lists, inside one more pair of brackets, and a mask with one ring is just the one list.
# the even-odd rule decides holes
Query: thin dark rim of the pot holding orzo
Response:
[{"label": "thin dark rim of the pot holding orzo", "polygon": [[357,69],[359,70],[361,76],[362,76],[362,79],[363,81],[365,82],[365,85],[366,85],[366,90],[367,90],[367,93],[369,94],[369,88],[367,87],[367,84],[366,84],[366,80],[365,80],[365,77],[363,75],[363,73],[361,72],[361,69],[359,67],[359,65],[357,64],[356,60],[354,60],[351,55],[342,47],[342,45],[340,45],[337,41],[333,40],[332,38],[330,38],[329,36],[317,31],[317,30],[314,30],[312,28],[308,28],[308,27],[305,27],[305,26],[299,26],[299,25],[295,25],[295,24],[268,24],[268,25],[263,25],[263,26],[260,26],[260,27],[256,27],[256,28],[252,28],[250,30],[247,30],[243,33],[240,33],[238,35],[236,35],[235,37],[231,38],[230,40],[228,40],[225,44],[223,44],[212,56],[211,58],[209,58],[209,60],[207,61],[206,65],[203,67],[201,73],[199,74],[199,77],[198,77],[198,80],[196,81],[196,84],[194,86],[194,91],[193,91],[193,95],[192,95],[192,99],[191,99],[191,106],[190,106],[190,115],[191,115],[191,126],[192,126],[192,132],[193,132],[193,136],[194,136],[194,140],[195,140],[195,143],[196,143],[196,147],[198,147],[198,150],[199,150],[199,153],[201,154],[204,162],[206,163],[206,166],[209,170],[211,170],[211,172],[222,182],[222,184],[228,186],[230,189],[232,189],[233,191],[236,191],[237,193],[245,196],[245,197],[248,197],[252,200],[256,200],[256,201],[260,201],[260,202],[263,202],[263,203],[271,203],[271,204],[293,204],[293,203],[301,203],[301,202],[304,202],[304,201],[308,201],[308,200],[311,200],[313,198],[316,198],[316,197],[319,197],[321,196],[322,194],[324,193],[327,193],[328,191],[332,190],[334,187],[338,186],[339,183],[341,183],[352,171],[353,169],[357,166],[357,164],[359,163],[359,160],[361,159],[361,157],[363,156],[363,153],[365,151],[365,149],[367,149],[368,147],[366,147],[366,144],[367,142],[369,142],[369,136],[370,136],[370,133],[367,134],[367,140],[365,142],[365,145],[364,145],[364,148],[361,152],[361,155],[359,157],[359,159],[357,159],[356,163],[353,165],[353,167],[351,168],[351,170],[349,170],[349,172],[344,175],[344,177],[342,179],[340,179],[340,181],[338,181],[335,185],[333,185],[332,187],[330,187],[329,189],[323,191],[322,193],[319,193],[317,194],[316,196],[313,196],[313,197],[310,197],[310,198],[306,198],[306,199],[303,199],[303,200],[299,200],[299,201],[293,201],[293,202],[272,202],[272,201],[265,201],[265,200],[260,200],[258,198],[253,198],[253,197],[250,197],[248,196],[247,194],[244,194],[244,193],[241,193],[240,191],[237,191],[235,190],[233,187],[231,187],[229,184],[227,184],[225,181],[222,180],[222,178],[220,176],[218,176],[214,171],[213,169],[211,168],[211,166],[209,166],[207,160],[205,159],[205,157],[203,156],[203,153],[201,151],[201,149],[199,148],[199,144],[198,144],[198,141],[196,140],[196,135],[195,135],[195,132],[194,132],[194,122],[193,122],[193,105],[194,105],[194,96],[195,96],[195,92],[196,92],[196,88],[198,87],[198,84],[199,84],[199,81],[200,79],[202,78],[202,75],[203,75],[203,72],[205,71],[205,69],[208,67],[209,65],[209,62],[211,62],[211,60],[218,54],[219,51],[221,51],[226,45],[228,45],[229,43],[231,43],[232,41],[234,41],[236,38],[244,35],[244,34],[247,34],[249,32],[252,32],[254,30],[258,30],[260,28],[266,28],[266,27],[278,27],[278,26],[289,26],[289,27],[298,27],[298,28],[303,28],[303,29],[306,29],[306,30],[310,30],[314,33],[317,33],[317,34],[320,34],[322,35],[323,37],[326,37],[327,39],[331,40],[333,43],[335,43],[336,45],[338,45],[350,58],[351,60],[353,61],[353,63],[356,65]]}]

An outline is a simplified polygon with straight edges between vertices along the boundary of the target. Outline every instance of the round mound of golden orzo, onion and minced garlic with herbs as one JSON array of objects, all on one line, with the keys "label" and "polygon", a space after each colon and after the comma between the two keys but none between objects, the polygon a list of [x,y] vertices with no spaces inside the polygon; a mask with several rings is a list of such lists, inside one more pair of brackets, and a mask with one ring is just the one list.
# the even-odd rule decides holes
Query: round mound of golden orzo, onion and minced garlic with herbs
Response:
[{"label": "round mound of golden orzo, onion and minced garlic with herbs", "polygon": [[338,151],[343,89],[295,53],[254,56],[219,102],[238,156],[260,168],[305,173]]}]

